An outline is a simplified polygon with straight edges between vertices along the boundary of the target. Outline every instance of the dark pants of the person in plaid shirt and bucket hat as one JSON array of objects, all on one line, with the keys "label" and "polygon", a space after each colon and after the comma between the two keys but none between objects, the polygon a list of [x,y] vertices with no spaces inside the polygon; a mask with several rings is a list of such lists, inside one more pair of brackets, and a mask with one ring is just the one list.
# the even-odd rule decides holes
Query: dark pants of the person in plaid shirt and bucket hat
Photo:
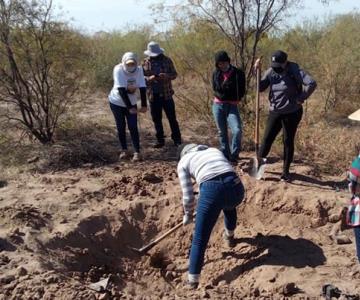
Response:
[{"label": "dark pants of the person in plaid shirt and bucket hat", "polygon": [[171,129],[171,138],[174,143],[181,144],[181,133],[178,121],[176,120],[175,102],[173,98],[164,99],[154,94],[154,100],[150,102],[151,117],[155,125],[156,138],[164,142],[164,128],[162,124],[162,111],[165,111]]}]

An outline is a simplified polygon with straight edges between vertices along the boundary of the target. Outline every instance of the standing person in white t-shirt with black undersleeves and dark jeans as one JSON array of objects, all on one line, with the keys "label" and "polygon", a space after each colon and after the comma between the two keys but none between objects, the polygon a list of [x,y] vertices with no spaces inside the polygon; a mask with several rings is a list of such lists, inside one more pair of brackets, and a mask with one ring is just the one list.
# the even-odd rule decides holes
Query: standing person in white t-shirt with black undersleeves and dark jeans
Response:
[{"label": "standing person in white t-shirt with black undersleeves and dark jeans", "polygon": [[118,137],[121,145],[119,159],[128,156],[126,143],[126,123],[130,131],[134,147],[133,161],[141,160],[140,138],[137,127],[137,89],[140,90],[141,108],[140,112],[146,112],[146,83],[143,69],[138,66],[138,59],[135,53],[126,52],[121,63],[114,67],[114,85],[109,94],[109,103],[114,115]]}]

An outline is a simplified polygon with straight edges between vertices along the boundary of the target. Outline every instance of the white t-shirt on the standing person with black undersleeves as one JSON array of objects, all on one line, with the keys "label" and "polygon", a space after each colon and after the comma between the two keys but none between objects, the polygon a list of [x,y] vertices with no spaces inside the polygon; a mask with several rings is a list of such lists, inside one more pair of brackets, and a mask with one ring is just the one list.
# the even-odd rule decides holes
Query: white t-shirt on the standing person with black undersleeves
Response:
[{"label": "white t-shirt on the standing person with black undersleeves", "polygon": [[[114,67],[113,71],[114,77],[114,86],[109,94],[109,101],[112,104],[126,107],[124,100],[121,98],[119,94],[118,88],[125,88],[128,87],[146,87],[145,77],[142,67],[138,66],[134,73],[126,72],[123,68],[123,64],[118,64]],[[136,94],[128,94],[129,99],[132,105],[136,105],[137,97]]]}]

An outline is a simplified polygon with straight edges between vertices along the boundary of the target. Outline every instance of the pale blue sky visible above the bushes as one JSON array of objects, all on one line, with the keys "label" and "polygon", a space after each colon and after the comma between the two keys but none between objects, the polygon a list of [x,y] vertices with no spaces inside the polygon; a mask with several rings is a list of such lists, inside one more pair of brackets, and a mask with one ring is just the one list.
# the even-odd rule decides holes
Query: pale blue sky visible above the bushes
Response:
[{"label": "pale blue sky visible above the bushes", "polygon": [[[176,0],[166,0],[176,2]],[[150,5],[156,0],[53,0],[56,7],[62,7],[66,18],[86,32],[123,29],[127,25],[149,24],[153,22]],[[360,0],[335,0],[330,5],[322,5],[318,0],[305,0],[304,8],[296,13],[292,24],[307,18],[320,19],[325,16],[360,12]],[[157,28],[161,31],[162,28]]]}]

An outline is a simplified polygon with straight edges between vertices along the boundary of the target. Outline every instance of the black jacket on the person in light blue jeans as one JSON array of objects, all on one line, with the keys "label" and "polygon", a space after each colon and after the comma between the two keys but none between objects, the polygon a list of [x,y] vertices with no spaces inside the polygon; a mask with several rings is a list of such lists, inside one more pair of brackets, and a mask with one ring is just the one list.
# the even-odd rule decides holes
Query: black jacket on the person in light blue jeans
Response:
[{"label": "black jacket on the person in light blue jeans", "polygon": [[233,65],[230,68],[232,73],[226,81],[221,80],[220,69],[215,69],[212,78],[214,95],[221,101],[240,101],[245,95],[245,74]]}]

